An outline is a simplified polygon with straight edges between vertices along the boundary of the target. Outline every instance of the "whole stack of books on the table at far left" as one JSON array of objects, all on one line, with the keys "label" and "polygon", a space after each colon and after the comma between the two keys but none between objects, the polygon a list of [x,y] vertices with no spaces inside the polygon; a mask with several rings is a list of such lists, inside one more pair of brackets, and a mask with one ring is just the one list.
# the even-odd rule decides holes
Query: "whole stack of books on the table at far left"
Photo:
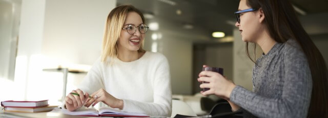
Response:
[{"label": "whole stack of books on the table at far left", "polygon": [[48,104],[48,100],[43,101],[4,101],[1,102],[1,106],[5,111],[14,112],[45,112],[51,111],[57,106],[51,106]]}]

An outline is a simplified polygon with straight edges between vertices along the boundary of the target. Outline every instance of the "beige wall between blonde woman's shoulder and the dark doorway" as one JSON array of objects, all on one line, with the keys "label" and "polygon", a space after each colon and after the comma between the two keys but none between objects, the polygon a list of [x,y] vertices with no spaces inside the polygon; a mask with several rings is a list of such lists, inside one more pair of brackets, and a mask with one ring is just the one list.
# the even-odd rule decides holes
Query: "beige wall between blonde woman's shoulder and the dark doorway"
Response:
[{"label": "beige wall between blonde woman's shoulder and the dark doorway", "polygon": [[[160,39],[154,41],[152,33],[162,35]],[[147,32],[145,49],[154,51],[157,45],[157,52],[164,54],[169,61],[171,73],[171,86],[173,94],[192,93],[192,41],[186,37],[174,35],[165,31]],[[153,47],[153,48],[152,48]],[[196,78],[195,78],[196,79]]]}]

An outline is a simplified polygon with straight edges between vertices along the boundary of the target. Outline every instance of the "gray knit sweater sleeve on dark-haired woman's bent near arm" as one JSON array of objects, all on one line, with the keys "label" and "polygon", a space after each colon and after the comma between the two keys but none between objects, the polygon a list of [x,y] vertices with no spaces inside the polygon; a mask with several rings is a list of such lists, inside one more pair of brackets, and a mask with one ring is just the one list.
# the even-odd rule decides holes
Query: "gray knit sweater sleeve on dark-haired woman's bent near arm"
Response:
[{"label": "gray knit sweater sleeve on dark-haired woman's bent near arm", "polygon": [[312,91],[308,62],[296,48],[284,52],[281,96],[265,97],[236,86],[230,100],[258,117],[306,117]]}]

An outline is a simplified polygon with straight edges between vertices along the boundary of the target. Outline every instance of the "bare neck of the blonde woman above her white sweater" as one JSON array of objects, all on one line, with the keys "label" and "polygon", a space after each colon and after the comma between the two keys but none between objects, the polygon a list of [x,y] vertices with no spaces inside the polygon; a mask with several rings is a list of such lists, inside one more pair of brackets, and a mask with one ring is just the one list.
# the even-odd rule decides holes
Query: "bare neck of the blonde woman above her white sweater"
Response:
[{"label": "bare neck of the blonde woman above her white sweater", "polygon": [[122,62],[132,62],[138,60],[138,51],[131,51],[126,49],[118,49],[117,58]]}]

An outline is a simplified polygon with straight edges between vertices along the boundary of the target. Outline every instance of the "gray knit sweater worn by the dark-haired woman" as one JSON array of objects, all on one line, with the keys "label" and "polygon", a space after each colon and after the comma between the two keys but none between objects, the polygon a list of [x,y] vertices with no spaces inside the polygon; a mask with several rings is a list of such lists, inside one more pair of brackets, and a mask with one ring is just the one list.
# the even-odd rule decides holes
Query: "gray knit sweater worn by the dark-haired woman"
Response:
[{"label": "gray knit sweater worn by the dark-haired woman", "polygon": [[295,40],[276,43],[256,63],[253,92],[237,86],[230,95],[230,100],[244,111],[244,117],[306,117],[312,77],[299,44]]}]

